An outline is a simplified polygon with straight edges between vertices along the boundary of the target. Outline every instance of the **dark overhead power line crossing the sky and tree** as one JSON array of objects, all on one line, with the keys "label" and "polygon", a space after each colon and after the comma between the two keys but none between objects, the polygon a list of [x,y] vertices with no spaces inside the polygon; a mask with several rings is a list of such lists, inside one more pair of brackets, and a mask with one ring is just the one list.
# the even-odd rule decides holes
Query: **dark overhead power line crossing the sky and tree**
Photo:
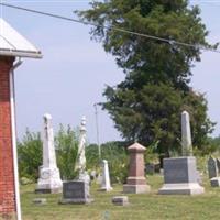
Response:
[{"label": "dark overhead power line crossing the sky and tree", "polygon": [[103,29],[107,29],[107,30],[111,29],[111,30],[122,32],[122,33],[128,33],[128,34],[132,34],[132,35],[141,36],[141,37],[146,37],[146,38],[151,38],[151,40],[156,40],[156,41],[169,43],[170,45],[176,44],[176,45],[180,45],[180,46],[188,46],[188,47],[193,47],[193,48],[200,48],[202,51],[210,51],[210,52],[215,52],[215,53],[220,53],[220,51],[218,51],[218,50],[207,48],[207,47],[201,46],[201,45],[195,45],[195,44],[178,42],[178,41],[175,41],[175,40],[168,40],[168,38],[164,38],[164,37],[160,37],[160,36],[154,36],[154,35],[150,35],[150,34],[143,34],[143,33],[139,33],[139,32],[133,32],[133,31],[120,29],[120,28],[117,28],[117,26],[99,25],[99,24],[91,23],[91,22],[85,22],[85,21],[80,21],[80,20],[77,20],[77,19],[68,18],[68,16],[63,16],[63,15],[58,15],[58,14],[54,14],[54,13],[48,13],[48,12],[37,11],[37,10],[28,9],[28,8],[23,8],[23,7],[12,6],[12,4],[8,4],[8,3],[0,3],[0,6],[12,8],[12,9],[18,9],[18,10],[22,10],[22,11],[28,11],[28,12],[32,12],[32,13],[36,13],[36,14],[41,14],[41,15],[47,15],[47,16],[55,18],[55,19],[62,19],[62,20],[66,20],[66,21],[70,21],[70,22],[81,23],[81,24],[86,24],[86,25],[103,28]]}]

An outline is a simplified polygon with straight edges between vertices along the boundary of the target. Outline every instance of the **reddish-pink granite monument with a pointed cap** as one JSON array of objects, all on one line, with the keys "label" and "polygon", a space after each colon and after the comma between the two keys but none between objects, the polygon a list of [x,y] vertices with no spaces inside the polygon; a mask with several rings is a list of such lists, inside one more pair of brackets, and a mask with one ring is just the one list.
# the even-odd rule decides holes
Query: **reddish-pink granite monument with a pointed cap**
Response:
[{"label": "reddish-pink granite monument with a pointed cap", "polygon": [[129,177],[123,186],[123,193],[142,194],[150,191],[150,186],[146,184],[144,172],[144,151],[146,148],[139,143],[129,146],[130,164]]}]

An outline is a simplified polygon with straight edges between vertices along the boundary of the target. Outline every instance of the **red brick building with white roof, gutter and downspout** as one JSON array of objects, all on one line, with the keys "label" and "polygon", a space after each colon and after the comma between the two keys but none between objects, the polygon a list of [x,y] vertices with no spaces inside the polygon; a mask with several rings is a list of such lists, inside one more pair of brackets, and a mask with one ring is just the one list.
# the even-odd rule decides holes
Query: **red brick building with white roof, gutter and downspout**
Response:
[{"label": "red brick building with white roof, gutter and downspout", "polygon": [[14,117],[14,69],[22,57],[41,58],[41,52],[0,19],[0,218],[21,219],[16,132]]}]

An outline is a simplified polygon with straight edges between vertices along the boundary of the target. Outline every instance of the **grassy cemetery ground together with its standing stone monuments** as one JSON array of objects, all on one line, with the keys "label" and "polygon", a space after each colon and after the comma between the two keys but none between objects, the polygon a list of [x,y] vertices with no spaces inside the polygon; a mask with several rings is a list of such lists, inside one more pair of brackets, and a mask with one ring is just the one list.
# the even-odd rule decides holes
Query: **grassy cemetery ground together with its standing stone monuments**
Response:
[{"label": "grassy cemetery ground together with its standing stone monuments", "polygon": [[[43,164],[40,168],[40,176],[45,182],[47,179],[51,183],[57,182],[61,187],[54,155],[52,117],[45,114],[43,119],[44,151],[42,161],[43,163],[47,162],[47,167],[55,167],[56,172],[54,174],[48,172],[42,176],[45,166]],[[35,190],[35,193],[36,184],[22,185],[21,202],[24,219],[218,218],[220,196],[218,158],[206,157],[206,162],[199,161],[199,164],[196,164],[196,157],[193,156],[191,150],[188,112],[182,113],[183,156],[165,158],[163,173],[147,174],[145,173],[143,155],[146,148],[134,143],[128,147],[129,170],[124,185],[116,182],[111,185],[111,170],[109,170],[107,160],[103,160],[100,164],[102,167],[101,182],[96,175],[92,179],[89,177],[86,158],[86,155],[89,155],[86,154],[89,146],[85,147],[85,117],[81,119],[79,131],[79,147],[76,157],[76,167],[79,172],[76,178],[63,182],[63,193],[52,190],[53,185],[50,186],[50,190],[48,185],[44,185],[47,190]],[[97,152],[98,157],[98,147],[92,148],[92,151]],[[103,148],[102,151],[105,152]],[[37,188],[40,188],[41,178]]]}]

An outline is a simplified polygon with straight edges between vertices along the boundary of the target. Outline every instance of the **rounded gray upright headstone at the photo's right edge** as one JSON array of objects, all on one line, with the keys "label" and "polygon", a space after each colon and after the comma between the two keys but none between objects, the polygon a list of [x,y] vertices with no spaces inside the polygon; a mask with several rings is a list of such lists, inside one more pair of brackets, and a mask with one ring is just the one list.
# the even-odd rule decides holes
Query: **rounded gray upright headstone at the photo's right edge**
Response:
[{"label": "rounded gray upright headstone at the photo's right edge", "polygon": [[209,157],[208,160],[208,173],[210,178],[210,184],[212,187],[219,187],[220,186],[220,177],[218,177],[218,163],[217,160],[213,157]]}]

